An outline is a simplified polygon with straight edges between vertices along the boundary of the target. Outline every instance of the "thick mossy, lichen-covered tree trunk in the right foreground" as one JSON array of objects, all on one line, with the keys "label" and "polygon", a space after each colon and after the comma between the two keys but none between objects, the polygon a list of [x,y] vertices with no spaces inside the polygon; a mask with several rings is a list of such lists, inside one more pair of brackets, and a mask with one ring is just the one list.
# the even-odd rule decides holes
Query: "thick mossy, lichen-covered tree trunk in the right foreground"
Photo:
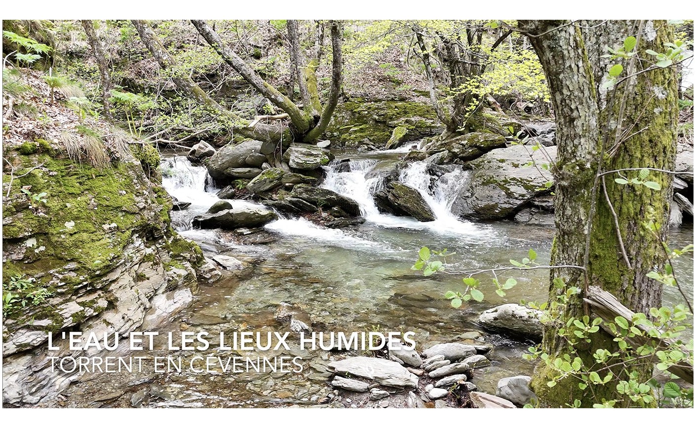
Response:
[{"label": "thick mossy, lichen-covered tree trunk in the right foreground", "polygon": [[[638,55],[644,55],[646,49],[662,51],[664,43],[671,41],[669,26],[651,21],[520,21],[519,25],[529,35],[546,73],[557,124],[552,264],[586,269],[552,270],[552,284],[560,278],[566,289],[599,286],[633,311],[646,312],[661,306],[661,284],[647,274],[665,263],[662,242],[667,231],[672,176],[651,172],[650,180],[661,185],[661,190],[652,190],[619,185],[614,181],[618,177],[615,173],[601,174],[635,167],[673,170],[677,76],[672,68],[644,72],[649,63],[623,60],[622,76],[637,75],[606,90],[602,83],[607,79],[610,60],[601,56],[606,53],[603,47],[619,47],[629,35],[638,38]],[[632,178],[638,173],[622,174]],[[654,220],[658,233],[644,229],[646,220]],[[550,299],[563,292],[552,285]],[[587,313],[582,297],[583,293],[571,297],[557,320],[545,327],[542,347],[551,355],[551,361],[575,349],[591,366],[594,349],[615,349],[612,337],[601,330],[592,335],[592,343],[580,342],[574,347],[560,334],[567,320]],[[565,334],[573,336],[572,331]],[[631,367],[644,378],[649,377],[651,369],[649,363]],[[604,386],[596,384],[580,390],[578,379],[573,377],[547,386],[554,375],[557,372],[553,368],[541,363],[532,379],[532,387],[544,406],[564,406],[576,399],[583,406],[592,406],[617,398],[616,377]],[[619,372],[615,375],[621,377]]]}]

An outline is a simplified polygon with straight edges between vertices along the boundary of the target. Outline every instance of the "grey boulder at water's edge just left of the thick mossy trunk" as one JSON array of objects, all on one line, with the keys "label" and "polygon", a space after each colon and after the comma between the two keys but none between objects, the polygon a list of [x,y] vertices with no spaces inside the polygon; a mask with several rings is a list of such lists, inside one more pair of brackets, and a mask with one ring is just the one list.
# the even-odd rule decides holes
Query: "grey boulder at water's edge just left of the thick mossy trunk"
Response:
[{"label": "grey boulder at water's edge just left of the thick mossy trunk", "polygon": [[485,311],[478,322],[487,329],[539,340],[542,334],[540,318],[541,311],[507,303]]}]

